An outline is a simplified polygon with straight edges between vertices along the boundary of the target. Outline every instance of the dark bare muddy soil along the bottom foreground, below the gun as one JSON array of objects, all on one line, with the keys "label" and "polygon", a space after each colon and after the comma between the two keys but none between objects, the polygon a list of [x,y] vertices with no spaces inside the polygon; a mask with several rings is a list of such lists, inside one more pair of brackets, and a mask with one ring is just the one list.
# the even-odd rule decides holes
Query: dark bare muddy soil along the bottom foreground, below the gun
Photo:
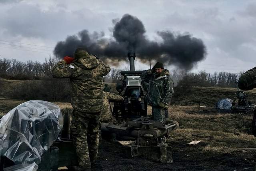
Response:
[{"label": "dark bare muddy soil along the bottom foreground, below the gun", "polygon": [[173,170],[173,171],[242,171],[254,169],[254,152],[205,153],[205,143],[185,147],[185,141],[170,143],[175,147],[173,163],[162,164],[139,157],[128,158],[123,147],[102,142],[95,170]]}]

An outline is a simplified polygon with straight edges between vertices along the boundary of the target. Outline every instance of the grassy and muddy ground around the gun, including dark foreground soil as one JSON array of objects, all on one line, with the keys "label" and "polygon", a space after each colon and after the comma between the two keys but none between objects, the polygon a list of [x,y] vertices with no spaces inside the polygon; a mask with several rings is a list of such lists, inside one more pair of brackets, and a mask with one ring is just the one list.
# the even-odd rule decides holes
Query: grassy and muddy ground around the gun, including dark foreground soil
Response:
[{"label": "grassy and muddy ground around the gun, including dark foreground soil", "polygon": [[[0,114],[22,102],[0,99]],[[70,107],[70,103],[56,104],[61,108]],[[214,108],[171,106],[169,114],[180,123],[180,128],[171,132],[167,140],[173,149],[173,163],[129,158],[122,145],[101,140],[94,170],[254,170],[256,138],[250,135],[252,113],[219,113]],[[199,140],[196,145],[184,145]]]}]

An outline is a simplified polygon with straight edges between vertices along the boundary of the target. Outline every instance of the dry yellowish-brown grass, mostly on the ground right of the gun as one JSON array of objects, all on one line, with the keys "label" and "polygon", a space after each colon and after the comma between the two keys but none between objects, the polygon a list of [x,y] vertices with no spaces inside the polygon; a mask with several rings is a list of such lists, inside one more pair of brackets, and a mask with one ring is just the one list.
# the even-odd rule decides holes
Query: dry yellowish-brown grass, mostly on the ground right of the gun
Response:
[{"label": "dry yellowish-brown grass, mostly on the ground right of the gun", "polygon": [[[24,101],[0,99],[0,115],[22,102]],[[56,104],[62,109],[71,107],[70,103]],[[150,113],[149,106],[148,114]],[[174,151],[175,163],[180,160],[188,168],[190,165],[202,165],[207,166],[208,170],[212,167],[234,170],[235,167],[252,168],[255,165],[255,151],[236,149],[255,148],[256,139],[250,135],[251,113],[218,113],[213,108],[171,106],[169,114],[172,120],[180,123],[180,129],[171,132],[167,139]],[[201,142],[196,145],[184,145],[198,140]]]}]

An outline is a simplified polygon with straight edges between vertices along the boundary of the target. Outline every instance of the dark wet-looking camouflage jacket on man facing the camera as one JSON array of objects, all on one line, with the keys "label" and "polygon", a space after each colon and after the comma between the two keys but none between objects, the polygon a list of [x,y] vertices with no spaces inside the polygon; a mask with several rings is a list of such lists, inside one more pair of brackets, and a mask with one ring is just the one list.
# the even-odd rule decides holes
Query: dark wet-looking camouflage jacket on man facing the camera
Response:
[{"label": "dark wet-looking camouflage jacket on man facing the camera", "polygon": [[142,81],[148,83],[148,103],[158,106],[160,102],[170,105],[173,94],[173,81],[168,70],[163,70],[157,77],[152,70],[142,73]]}]

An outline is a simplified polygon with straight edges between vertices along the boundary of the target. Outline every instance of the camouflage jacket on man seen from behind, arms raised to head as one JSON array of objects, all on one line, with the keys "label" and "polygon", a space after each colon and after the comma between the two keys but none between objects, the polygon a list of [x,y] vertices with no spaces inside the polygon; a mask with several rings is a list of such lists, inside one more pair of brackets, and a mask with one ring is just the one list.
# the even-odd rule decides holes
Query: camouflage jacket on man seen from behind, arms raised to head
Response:
[{"label": "camouflage jacket on man seen from behind, arms raised to head", "polygon": [[102,110],[103,76],[110,72],[110,67],[89,55],[78,58],[71,64],[58,62],[53,70],[54,78],[70,78],[71,105],[78,111],[98,113]]}]

